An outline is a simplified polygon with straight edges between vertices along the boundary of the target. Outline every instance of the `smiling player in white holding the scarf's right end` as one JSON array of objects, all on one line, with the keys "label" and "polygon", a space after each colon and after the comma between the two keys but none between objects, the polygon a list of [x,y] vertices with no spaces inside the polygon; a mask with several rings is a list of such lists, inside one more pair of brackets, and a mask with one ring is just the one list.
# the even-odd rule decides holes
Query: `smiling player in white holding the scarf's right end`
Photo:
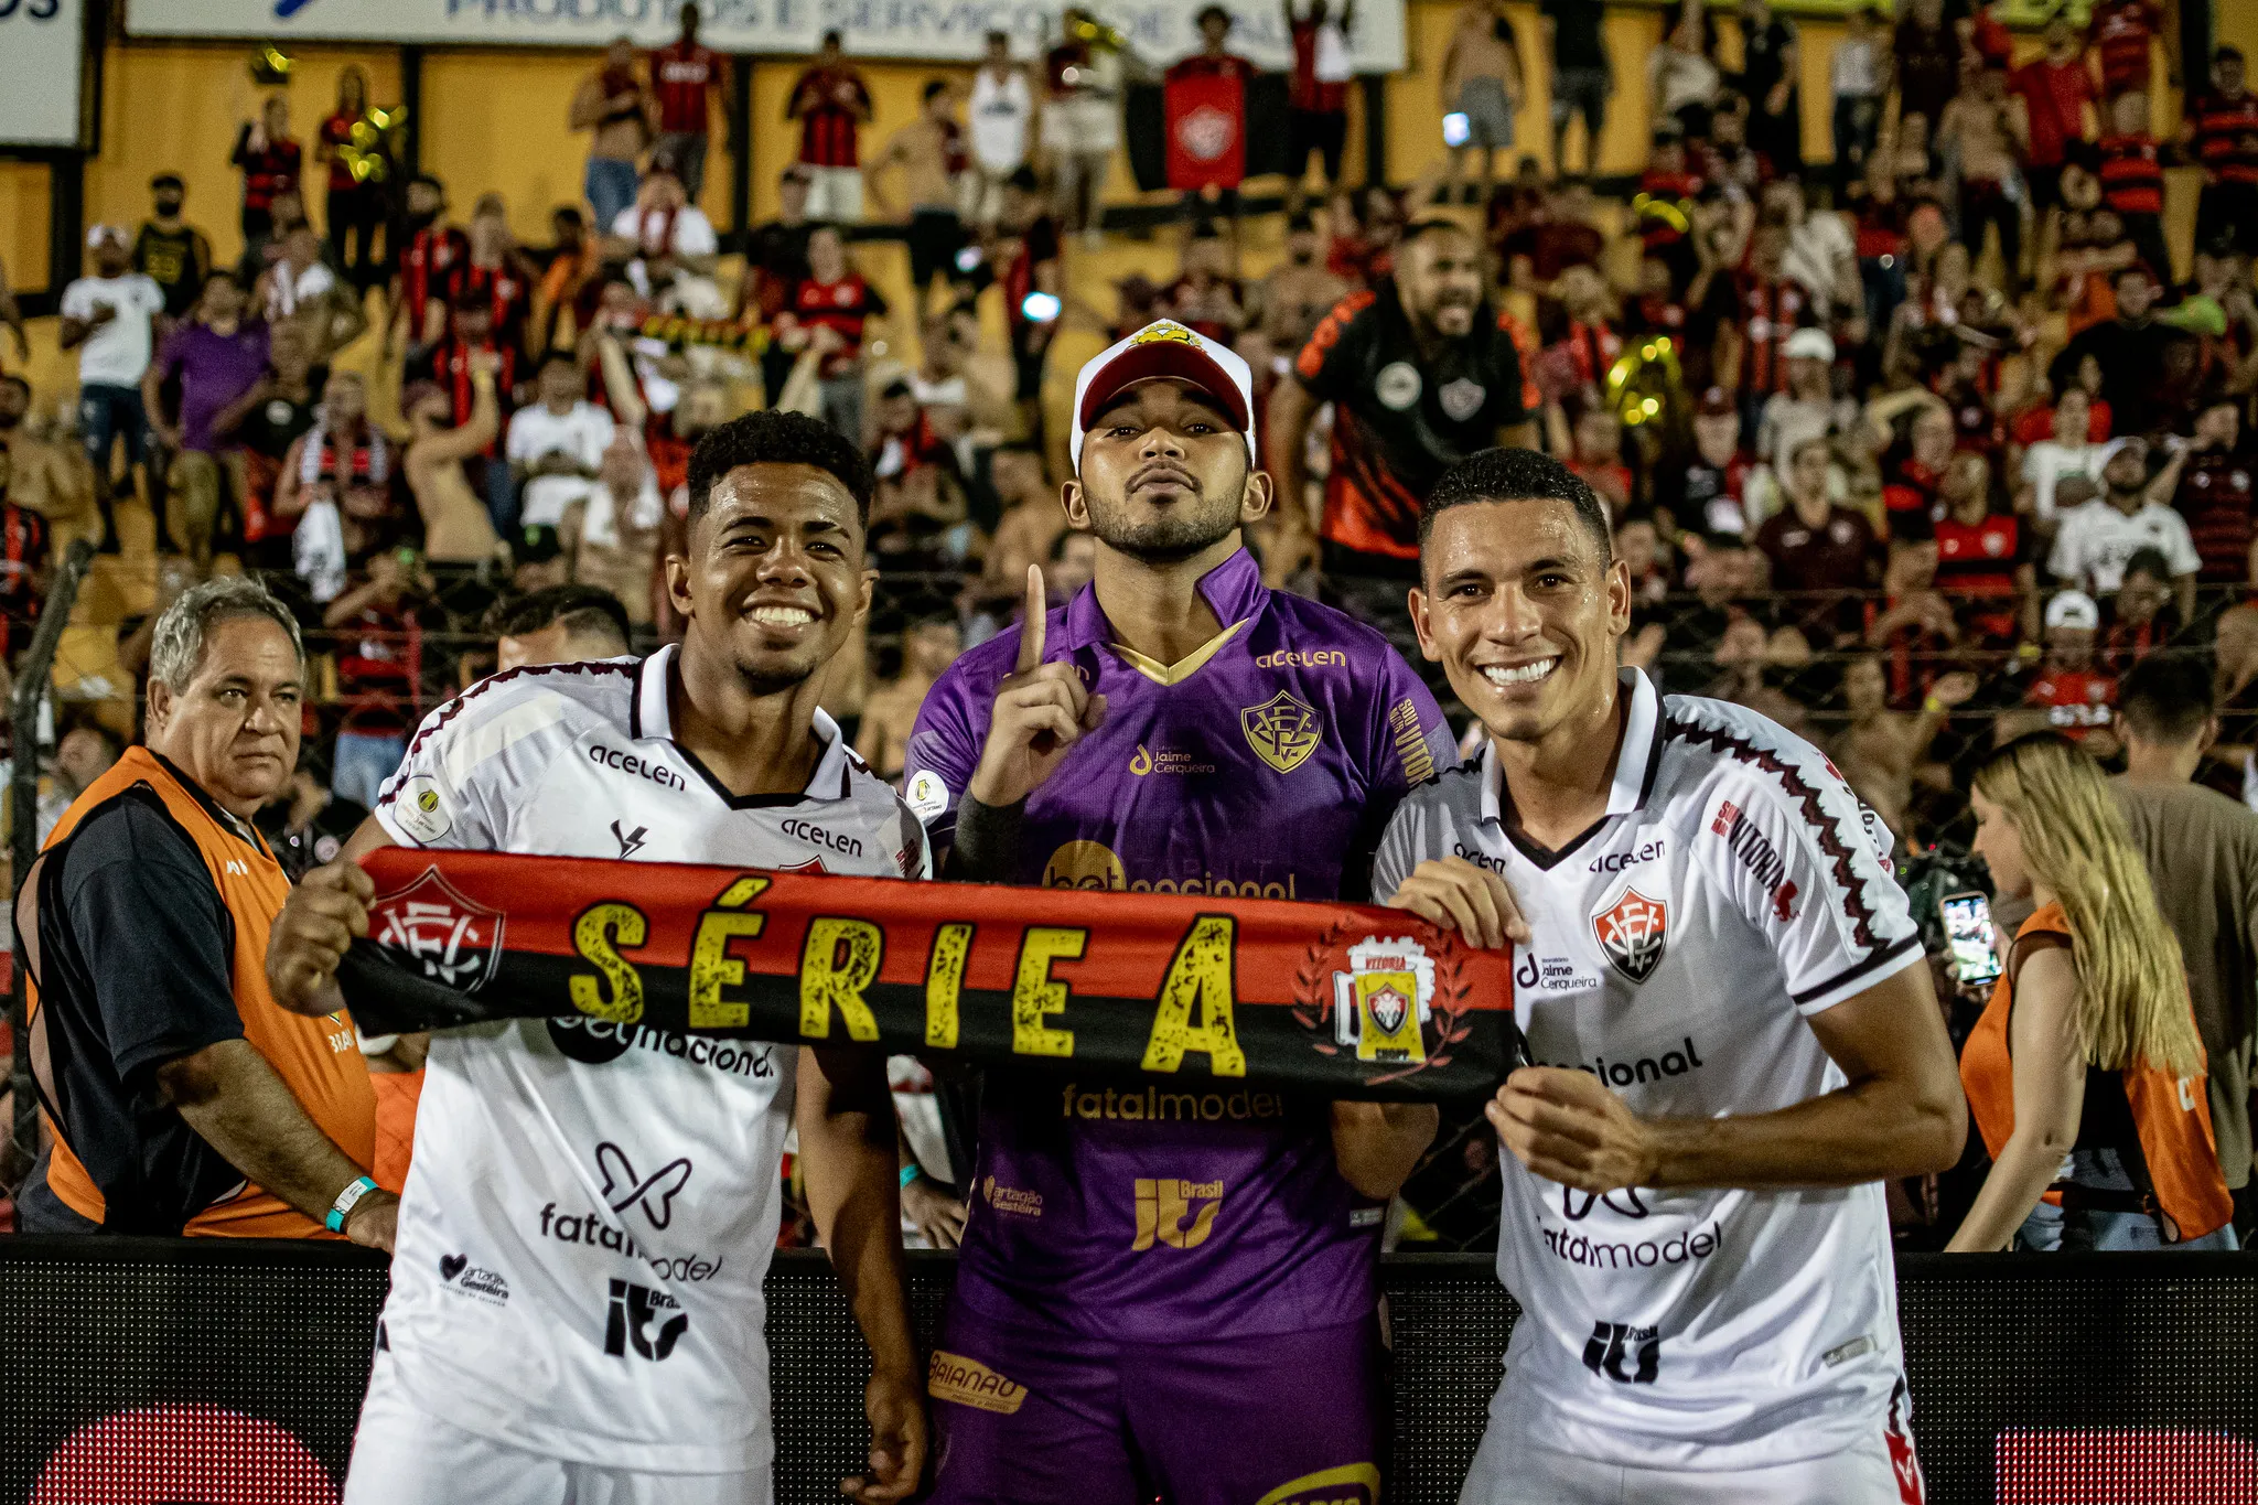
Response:
[{"label": "smiling player in white holding the scarf's right end", "polygon": [[1468,458],[1411,621],[1481,763],[1380,844],[1386,903],[1513,943],[1542,1063],[1490,1103],[1522,1302],[1461,1505],[1919,1500],[1881,1182],[1967,1110],[1888,833],[1818,749],[1617,668],[1592,490]]}]

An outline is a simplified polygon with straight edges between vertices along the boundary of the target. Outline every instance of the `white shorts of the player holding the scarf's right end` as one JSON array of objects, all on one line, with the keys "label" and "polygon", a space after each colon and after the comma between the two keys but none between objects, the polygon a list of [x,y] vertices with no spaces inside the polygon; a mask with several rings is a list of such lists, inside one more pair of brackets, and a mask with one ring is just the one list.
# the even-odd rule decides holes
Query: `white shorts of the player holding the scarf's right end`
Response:
[{"label": "white shorts of the player holding the scarf's right end", "polygon": [[1890,1408],[1890,1424],[1831,1458],[1770,1469],[1626,1469],[1535,1446],[1497,1426],[1481,1433],[1459,1505],[1922,1505],[1922,1462],[1913,1433]]}]

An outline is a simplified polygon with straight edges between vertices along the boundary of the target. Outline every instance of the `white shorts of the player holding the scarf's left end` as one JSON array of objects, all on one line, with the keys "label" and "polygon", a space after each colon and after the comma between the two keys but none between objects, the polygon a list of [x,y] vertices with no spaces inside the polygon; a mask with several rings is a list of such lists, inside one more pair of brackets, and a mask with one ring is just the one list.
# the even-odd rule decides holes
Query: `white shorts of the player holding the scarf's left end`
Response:
[{"label": "white shorts of the player holding the scarf's left end", "polygon": [[352,1435],[343,1505],[772,1505],[756,1473],[639,1473],[562,1462],[425,1415],[400,1394],[393,1356],[377,1349]]}]

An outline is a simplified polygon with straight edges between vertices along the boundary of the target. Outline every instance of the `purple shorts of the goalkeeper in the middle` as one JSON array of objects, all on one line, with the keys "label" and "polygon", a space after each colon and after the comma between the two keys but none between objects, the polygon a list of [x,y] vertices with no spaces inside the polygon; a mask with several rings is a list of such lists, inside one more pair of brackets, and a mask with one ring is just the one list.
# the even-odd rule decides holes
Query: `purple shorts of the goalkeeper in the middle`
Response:
[{"label": "purple shorts of the goalkeeper in the middle", "polygon": [[1377,1315],[1269,1338],[1104,1343],[953,1302],[930,1505],[1377,1505]]}]

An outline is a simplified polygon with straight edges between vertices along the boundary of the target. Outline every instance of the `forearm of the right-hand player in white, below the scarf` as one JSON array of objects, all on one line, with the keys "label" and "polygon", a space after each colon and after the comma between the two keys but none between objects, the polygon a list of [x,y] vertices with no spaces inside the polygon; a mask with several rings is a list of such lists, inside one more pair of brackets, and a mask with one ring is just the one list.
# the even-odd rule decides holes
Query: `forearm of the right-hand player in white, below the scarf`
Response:
[{"label": "forearm of the right-hand player in white, below the scarf", "polygon": [[1944,1171],[1960,1158],[1967,1101],[1872,1076],[1824,1097],[1723,1119],[1648,1119],[1655,1176],[1673,1187],[1856,1187]]}]

